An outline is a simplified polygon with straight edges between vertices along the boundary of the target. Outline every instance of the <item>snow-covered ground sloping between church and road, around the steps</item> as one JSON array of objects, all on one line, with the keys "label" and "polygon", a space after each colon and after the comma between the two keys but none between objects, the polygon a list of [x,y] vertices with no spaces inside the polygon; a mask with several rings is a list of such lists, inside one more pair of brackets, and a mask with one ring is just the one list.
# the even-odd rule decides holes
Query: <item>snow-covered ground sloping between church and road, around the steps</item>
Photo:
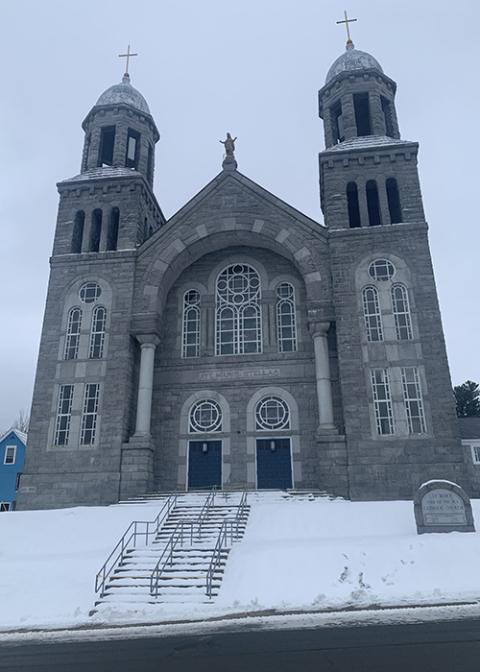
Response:
[{"label": "snow-covered ground sloping between church and road, around the steps", "polygon": [[[93,618],[96,571],[134,519],[159,505],[0,515],[0,629],[205,619],[480,600],[480,533],[416,534],[411,502],[253,494],[216,602],[155,605]],[[480,500],[473,501],[480,526]]]}]

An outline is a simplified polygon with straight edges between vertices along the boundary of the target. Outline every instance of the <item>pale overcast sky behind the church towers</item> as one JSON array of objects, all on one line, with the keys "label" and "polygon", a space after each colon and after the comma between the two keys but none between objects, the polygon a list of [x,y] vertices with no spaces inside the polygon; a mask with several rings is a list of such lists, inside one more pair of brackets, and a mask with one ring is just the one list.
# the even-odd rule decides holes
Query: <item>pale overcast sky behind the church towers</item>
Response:
[{"label": "pale overcast sky behind the church towers", "polygon": [[[345,47],[346,0],[0,0],[0,429],[29,410],[57,212],[79,172],[81,122],[132,83],[161,140],[155,191],[167,217],[219,172],[239,170],[323,222],[317,91]],[[355,46],[398,83],[402,137],[420,179],[454,383],[480,380],[477,0],[348,0]]]}]

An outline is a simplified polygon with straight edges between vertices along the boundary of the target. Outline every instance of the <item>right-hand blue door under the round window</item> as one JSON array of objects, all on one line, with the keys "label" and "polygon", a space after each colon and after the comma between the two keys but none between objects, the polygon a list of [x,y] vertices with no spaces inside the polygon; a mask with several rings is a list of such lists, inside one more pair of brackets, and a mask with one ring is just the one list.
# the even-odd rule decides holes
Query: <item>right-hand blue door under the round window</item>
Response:
[{"label": "right-hand blue door under the round window", "polygon": [[257,439],[257,488],[292,487],[290,439]]}]

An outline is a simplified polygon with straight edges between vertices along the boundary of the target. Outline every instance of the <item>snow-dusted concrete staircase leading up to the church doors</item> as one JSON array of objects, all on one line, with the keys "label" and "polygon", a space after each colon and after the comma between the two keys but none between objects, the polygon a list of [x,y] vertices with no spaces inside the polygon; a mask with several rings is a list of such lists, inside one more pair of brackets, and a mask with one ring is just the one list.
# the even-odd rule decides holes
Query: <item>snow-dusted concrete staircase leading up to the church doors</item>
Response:
[{"label": "snow-dusted concrete staircase leading up to the church doors", "polygon": [[[206,494],[186,493],[177,496],[170,511],[153,540],[146,546],[128,548],[120,563],[109,577],[95,607],[111,604],[140,607],[157,603],[213,603],[206,594],[206,578],[222,523],[235,519],[243,493],[215,494],[214,503],[205,511]],[[152,502],[153,496],[148,498]],[[159,503],[165,501],[158,497]],[[130,503],[130,502],[129,502]],[[199,516],[203,512],[203,518]],[[245,506],[238,520],[239,538],[245,532],[249,506]],[[158,579],[158,594],[150,594],[150,577],[159,558],[172,538],[178,536],[179,523],[184,523],[182,543],[177,542],[171,559]],[[225,571],[230,546],[222,548],[212,580],[212,598],[218,595]],[[167,554],[166,554],[167,555]],[[166,557],[166,556],[165,556]]]}]

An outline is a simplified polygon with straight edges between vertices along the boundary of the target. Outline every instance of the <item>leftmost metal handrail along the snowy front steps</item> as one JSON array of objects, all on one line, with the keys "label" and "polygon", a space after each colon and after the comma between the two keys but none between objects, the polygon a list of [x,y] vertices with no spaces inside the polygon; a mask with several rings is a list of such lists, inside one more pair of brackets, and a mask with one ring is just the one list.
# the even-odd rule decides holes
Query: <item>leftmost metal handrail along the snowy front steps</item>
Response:
[{"label": "leftmost metal handrail along the snowy front steps", "polygon": [[[177,495],[171,495],[154,520],[134,520],[130,523],[122,538],[118,541],[115,548],[95,576],[95,592],[98,593],[100,591],[100,597],[103,597],[107,579],[117,565],[123,560],[126,550],[131,546],[133,546],[133,548],[136,547],[137,538],[145,538],[145,545],[147,545],[150,536],[158,532],[163,521],[170,515],[170,511],[175,507],[176,503]],[[132,540],[133,544],[131,543]]]}]

